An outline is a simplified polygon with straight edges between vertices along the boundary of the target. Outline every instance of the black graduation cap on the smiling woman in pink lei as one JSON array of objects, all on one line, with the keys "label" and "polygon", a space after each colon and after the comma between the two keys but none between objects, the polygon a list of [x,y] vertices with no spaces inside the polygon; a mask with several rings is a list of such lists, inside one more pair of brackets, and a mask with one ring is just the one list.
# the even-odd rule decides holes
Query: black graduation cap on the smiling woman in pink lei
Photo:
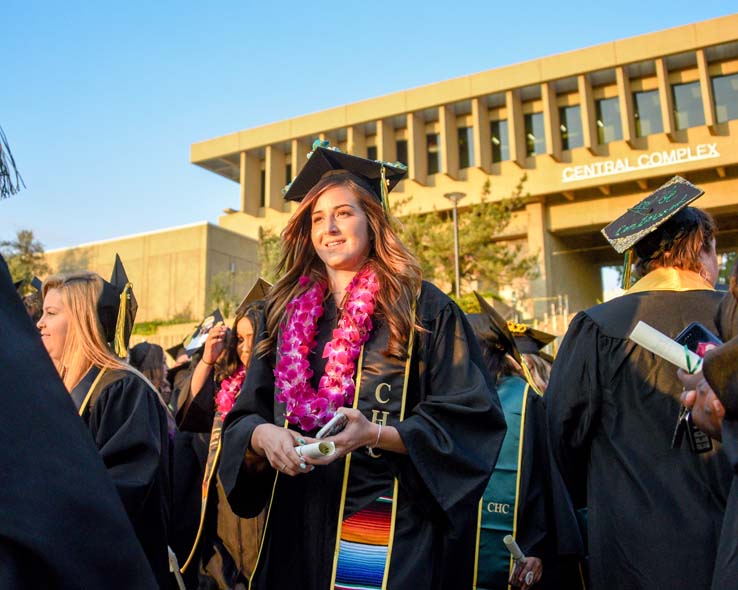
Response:
[{"label": "black graduation cap on the smiling woman in pink lei", "polygon": [[316,139],[313,151],[308,154],[308,161],[297,177],[282,189],[288,201],[302,201],[318,182],[330,173],[348,172],[360,180],[382,204],[389,210],[387,194],[407,174],[407,166],[400,162],[388,163],[381,160],[370,160],[352,156],[329,142]]}]

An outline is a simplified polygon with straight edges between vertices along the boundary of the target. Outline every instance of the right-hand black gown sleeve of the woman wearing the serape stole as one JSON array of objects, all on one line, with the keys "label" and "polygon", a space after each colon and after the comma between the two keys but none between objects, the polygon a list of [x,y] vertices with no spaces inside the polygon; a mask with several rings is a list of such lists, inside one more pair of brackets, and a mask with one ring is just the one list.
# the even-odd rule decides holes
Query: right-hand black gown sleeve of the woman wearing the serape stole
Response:
[{"label": "right-hand black gown sleeve of the woman wearing the serape stole", "polygon": [[484,493],[505,436],[505,418],[458,307],[448,301],[424,328],[418,334],[420,400],[397,426],[408,454],[388,461],[414,502],[440,510],[459,531],[470,505]]}]

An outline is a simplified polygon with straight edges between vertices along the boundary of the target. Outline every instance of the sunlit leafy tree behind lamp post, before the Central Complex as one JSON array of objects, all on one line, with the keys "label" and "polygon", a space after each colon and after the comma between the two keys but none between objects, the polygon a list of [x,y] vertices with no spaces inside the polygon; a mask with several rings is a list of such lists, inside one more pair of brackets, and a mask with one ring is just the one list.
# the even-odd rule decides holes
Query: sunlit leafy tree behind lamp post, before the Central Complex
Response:
[{"label": "sunlit leafy tree behind lamp post, before the Central Complex", "polygon": [[[515,210],[524,206],[523,176],[513,194],[491,201],[490,181],[482,187],[480,203],[459,213],[459,272],[462,284],[479,281],[493,291],[515,279],[538,276],[538,253],[524,255],[523,246],[495,241],[510,224]],[[400,201],[404,207],[410,199]],[[423,275],[435,282],[453,285],[455,280],[453,218],[450,211],[412,214],[400,219],[399,233],[415,253]]]}]

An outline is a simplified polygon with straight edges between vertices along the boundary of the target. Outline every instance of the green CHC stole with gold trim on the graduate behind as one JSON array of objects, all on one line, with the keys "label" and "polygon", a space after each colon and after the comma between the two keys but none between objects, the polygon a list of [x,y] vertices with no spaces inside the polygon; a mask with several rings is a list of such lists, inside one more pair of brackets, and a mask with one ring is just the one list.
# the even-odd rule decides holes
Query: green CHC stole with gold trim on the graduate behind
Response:
[{"label": "green CHC stole with gold trim on the graduate behind", "polygon": [[528,390],[525,380],[513,376],[498,381],[497,394],[507,422],[497,465],[479,503],[474,588],[498,590],[509,587],[513,560],[502,542],[517,533],[520,468],[523,459]]}]

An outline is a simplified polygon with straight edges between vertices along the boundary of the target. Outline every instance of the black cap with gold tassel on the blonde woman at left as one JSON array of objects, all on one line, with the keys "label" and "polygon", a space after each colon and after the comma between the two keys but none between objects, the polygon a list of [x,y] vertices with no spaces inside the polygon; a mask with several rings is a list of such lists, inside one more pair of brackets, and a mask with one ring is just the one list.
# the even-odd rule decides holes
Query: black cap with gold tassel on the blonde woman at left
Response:
[{"label": "black cap with gold tassel on the blonde woman at left", "polygon": [[125,358],[136,320],[138,302],[133,294],[133,285],[128,280],[120,256],[115,255],[115,265],[110,281],[103,280],[103,289],[97,300],[97,315],[100,318],[105,340],[113,346],[115,354]]}]

